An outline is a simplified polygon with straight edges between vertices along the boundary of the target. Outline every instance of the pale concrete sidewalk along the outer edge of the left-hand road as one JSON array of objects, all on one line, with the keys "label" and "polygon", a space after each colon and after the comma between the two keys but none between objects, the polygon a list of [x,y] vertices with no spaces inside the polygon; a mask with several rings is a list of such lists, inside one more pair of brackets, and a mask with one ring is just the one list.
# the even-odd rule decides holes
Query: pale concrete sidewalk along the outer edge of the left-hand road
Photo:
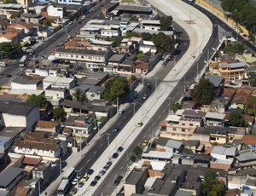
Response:
[{"label": "pale concrete sidewalk along the outer edge of the left-hand road", "polygon": [[[139,84],[136,88],[137,92],[141,91],[143,89],[143,84]],[[128,107],[129,103],[120,104],[119,107],[126,109]],[[79,163],[79,160],[81,159],[81,154],[85,154],[90,151],[92,147],[96,144],[96,142],[100,139],[100,136],[108,130],[108,128],[116,121],[116,119],[119,118],[117,115],[114,115],[112,118],[108,120],[108,122],[102,127],[101,130],[96,133],[96,135],[90,140],[89,145],[85,146],[81,152],[77,153],[71,153],[71,155],[66,159],[67,165],[63,168],[62,173],[60,176],[58,176],[54,182],[51,182],[49,187],[47,187],[44,192],[42,192],[40,195],[45,196],[51,195],[54,193],[56,187],[61,183],[61,176],[65,173],[65,171],[70,167],[75,167],[77,163]]]}]

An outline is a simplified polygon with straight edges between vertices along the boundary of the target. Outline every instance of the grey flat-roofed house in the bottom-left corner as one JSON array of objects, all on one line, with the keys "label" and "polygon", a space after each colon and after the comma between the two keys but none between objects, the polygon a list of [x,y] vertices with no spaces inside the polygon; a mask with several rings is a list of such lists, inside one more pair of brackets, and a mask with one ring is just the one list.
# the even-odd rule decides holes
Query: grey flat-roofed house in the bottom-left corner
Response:
[{"label": "grey flat-roofed house in the bottom-left corner", "polygon": [[11,191],[23,178],[23,169],[8,167],[0,173],[0,189]]}]

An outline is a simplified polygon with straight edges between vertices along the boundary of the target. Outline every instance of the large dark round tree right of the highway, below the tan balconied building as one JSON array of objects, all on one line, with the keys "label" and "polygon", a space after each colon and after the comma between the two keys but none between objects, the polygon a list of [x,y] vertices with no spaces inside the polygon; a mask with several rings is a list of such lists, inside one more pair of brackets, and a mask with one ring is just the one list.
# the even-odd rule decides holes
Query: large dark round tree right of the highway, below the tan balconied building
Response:
[{"label": "large dark round tree right of the highway, below the tan balconied building", "polygon": [[209,105],[214,98],[214,85],[205,78],[201,78],[199,84],[191,90],[193,100],[201,105]]}]

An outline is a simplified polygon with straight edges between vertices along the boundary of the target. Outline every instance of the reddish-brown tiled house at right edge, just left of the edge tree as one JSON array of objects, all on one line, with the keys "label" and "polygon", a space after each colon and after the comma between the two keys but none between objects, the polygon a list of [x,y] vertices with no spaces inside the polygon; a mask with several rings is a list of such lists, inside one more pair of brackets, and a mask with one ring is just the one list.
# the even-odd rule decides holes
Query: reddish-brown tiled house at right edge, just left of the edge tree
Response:
[{"label": "reddish-brown tiled house at right edge, just left of the edge tree", "polygon": [[251,95],[252,89],[247,88],[239,88],[236,90],[236,95],[234,96],[233,100],[231,101],[231,108],[240,108],[244,109],[244,105],[247,101],[247,96]]}]

